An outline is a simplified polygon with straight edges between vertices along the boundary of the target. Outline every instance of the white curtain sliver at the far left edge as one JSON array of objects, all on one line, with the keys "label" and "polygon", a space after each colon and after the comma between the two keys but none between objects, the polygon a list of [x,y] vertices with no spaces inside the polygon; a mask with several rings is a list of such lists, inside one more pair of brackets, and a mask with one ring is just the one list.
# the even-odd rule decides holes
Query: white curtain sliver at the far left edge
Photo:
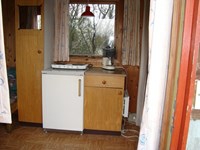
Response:
[{"label": "white curtain sliver at the far left edge", "polygon": [[0,3],[0,122],[11,123],[10,98],[3,35],[2,4]]}]

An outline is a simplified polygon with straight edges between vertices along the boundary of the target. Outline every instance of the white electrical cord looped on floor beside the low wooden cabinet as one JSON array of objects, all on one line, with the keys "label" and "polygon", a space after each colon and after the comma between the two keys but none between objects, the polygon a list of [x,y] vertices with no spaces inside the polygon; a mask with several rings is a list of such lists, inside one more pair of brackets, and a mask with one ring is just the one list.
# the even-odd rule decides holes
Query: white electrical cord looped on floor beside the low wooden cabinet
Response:
[{"label": "white electrical cord looped on floor beside the low wooden cabinet", "polygon": [[126,118],[123,117],[123,125],[122,125],[122,130],[121,130],[121,136],[124,138],[130,140],[130,141],[137,141],[139,138],[139,131],[135,129],[125,129],[126,123],[130,126],[134,125],[133,122],[128,122]]}]

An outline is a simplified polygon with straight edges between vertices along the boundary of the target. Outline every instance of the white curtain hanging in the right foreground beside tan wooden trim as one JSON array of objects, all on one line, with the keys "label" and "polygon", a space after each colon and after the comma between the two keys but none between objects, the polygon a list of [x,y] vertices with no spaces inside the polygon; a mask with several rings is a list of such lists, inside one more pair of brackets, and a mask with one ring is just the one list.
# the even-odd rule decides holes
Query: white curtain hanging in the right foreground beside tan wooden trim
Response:
[{"label": "white curtain hanging in the right foreground beside tan wooden trim", "polygon": [[173,0],[151,0],[149,59],[138,150],[158,150],[165,100]]}]

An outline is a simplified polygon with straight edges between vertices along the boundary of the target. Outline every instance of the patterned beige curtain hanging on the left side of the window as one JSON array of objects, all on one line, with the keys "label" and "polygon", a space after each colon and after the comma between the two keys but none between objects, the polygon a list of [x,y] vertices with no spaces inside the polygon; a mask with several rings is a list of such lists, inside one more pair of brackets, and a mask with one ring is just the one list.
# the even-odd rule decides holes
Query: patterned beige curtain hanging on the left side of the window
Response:
[{"label": "patterned beige curtain hanging on the left side of the window", "polygon": [[69,61],[69,0],[55,1],[54,61]]}]

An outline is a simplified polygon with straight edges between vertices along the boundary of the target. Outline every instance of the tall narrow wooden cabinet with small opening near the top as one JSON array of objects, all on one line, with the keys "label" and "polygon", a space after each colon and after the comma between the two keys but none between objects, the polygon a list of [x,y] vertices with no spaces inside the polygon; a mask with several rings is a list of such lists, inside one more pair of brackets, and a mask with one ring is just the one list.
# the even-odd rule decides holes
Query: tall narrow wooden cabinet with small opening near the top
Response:
[{"label": "tall narrow wooden cabinet with small opening near the top", "polygon": [[[28,26],[26,29],[25,25],[20,25],[20,6],[40,7],[41,24],[39,28],[32,29]],[[30,16],[28,17],[29,19]],[[41,70],[44,64],[44,1],[16,0],[15,19],[19,121],[41,123]],[[26,19],[23,21],[26,21]]]}]

